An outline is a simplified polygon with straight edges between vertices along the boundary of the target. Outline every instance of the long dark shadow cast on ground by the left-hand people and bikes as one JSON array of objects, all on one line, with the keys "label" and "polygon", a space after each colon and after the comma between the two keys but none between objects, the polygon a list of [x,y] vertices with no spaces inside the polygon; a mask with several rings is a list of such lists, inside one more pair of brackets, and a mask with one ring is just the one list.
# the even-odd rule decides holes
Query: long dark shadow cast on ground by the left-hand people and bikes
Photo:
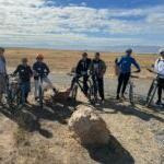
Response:
[{"label": "long dark shadow cast on ground by the left-hand people and bikes", "polygon": [[61,101],[59,103],[51,103],[50,101],[46,101],[44,108],[39,108],[37,105],[25,105],[21,109],[17,109],[3,105],[0,107],[0,112],[26,131],[38,131],[45,138],[52,138],[50,131],[42,128],[40,119],[67,124],[67,119],[71,117],[71,114],[79,104],[80,102]]}]

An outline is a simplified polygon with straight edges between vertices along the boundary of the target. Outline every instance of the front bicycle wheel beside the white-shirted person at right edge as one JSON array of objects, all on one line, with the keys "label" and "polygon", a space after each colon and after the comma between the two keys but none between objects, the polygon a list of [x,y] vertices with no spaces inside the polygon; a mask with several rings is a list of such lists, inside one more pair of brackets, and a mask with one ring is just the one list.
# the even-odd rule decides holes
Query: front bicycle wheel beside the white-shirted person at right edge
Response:
[{"label": "front bicycle wheel beside the white-shirted person at right edge", "polygon": [[147,106],[149,107],[155,96],[157,90],[157,83],[155,81],[152,82],[151,87],[148,92],[148,96],[147,96]]}]

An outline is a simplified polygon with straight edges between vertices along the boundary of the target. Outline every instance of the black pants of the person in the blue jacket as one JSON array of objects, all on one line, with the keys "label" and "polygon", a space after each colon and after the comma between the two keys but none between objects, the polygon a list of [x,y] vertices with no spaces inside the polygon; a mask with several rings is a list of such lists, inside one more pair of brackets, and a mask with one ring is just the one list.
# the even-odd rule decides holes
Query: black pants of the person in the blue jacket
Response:
[{"label": "black pants of the person in the blue jacket", "polygon": [[118,77],[118,87],[117,87],[117,95],[119,95],[120,90],[121,94],[125,94],[127,84],[129,82],[130,73],[120,73]]}]

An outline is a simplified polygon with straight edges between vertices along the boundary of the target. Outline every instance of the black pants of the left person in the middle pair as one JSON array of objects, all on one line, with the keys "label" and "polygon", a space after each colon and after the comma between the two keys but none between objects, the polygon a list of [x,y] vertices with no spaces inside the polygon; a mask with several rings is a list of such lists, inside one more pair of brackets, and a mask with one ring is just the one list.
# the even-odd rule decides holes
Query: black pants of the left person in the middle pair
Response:
[{"label": "black pants of the left person in the middle pair", "polygon": [[87,90],[89,90],[89,85],[87,85],[87,80],[89,80],[89,75],[77,75],[73,78],[72,83],[71,83],[71,90],[73,89],[74,83],[80,79],[83,78],[83,90],[84,93],[87,94]]}]

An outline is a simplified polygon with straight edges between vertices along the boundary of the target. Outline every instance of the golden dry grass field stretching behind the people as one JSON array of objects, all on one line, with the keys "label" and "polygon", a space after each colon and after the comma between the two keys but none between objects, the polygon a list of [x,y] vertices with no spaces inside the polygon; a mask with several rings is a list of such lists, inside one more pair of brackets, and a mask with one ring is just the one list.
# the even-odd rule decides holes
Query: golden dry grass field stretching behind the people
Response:
[{"label": "golden dry grass field stretching behind the people", "polygon": [[[55,72],[67,73],[71,70],[72,67],[77,65],[79,59],[81,58],[82,51],[69,51],[69,50],[50,50],[50,49],[26,49],[26,48],[12,48],[7,49],[5,56],[8,60],[8,65],[10,67],[15,68],[21,58],[27,57],[30,59],[30,63],[35,62],[36,54],[44,54],[45,61],[48,63],[50,69]],[[117,57],[122,54],[116,52],[102,52],[102,58],[105,60],[108,69],[107,75],[114,75],[114,61]],[[93,58],[94,52],[89,52],[89,56]],[[157,58],[155,55],[133,55],[136,59],[139,61],[142,68],[141,77],[150,77],[150,73],[145,70],[145,68],[150,67],[154,63]]]}]

